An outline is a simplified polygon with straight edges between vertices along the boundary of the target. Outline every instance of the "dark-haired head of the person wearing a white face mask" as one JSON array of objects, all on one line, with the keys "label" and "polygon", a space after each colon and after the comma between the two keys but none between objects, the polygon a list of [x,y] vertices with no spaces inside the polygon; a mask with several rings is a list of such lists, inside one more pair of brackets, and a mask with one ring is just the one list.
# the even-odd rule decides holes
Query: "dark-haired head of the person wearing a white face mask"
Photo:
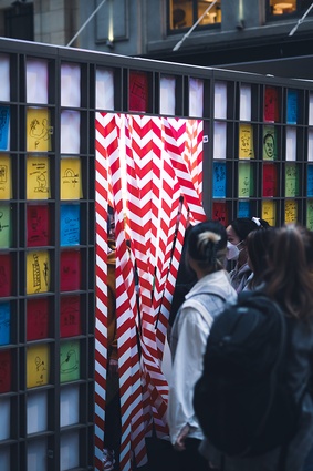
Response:
[{"label": "dark-haired head of the person wearing a white face mask", "polygon": [[227,227],[229,260],[237,260],[240,265],[247,263],[246,239],[252,231],[270,227],[269,223],[259,217],[237,217]]}]

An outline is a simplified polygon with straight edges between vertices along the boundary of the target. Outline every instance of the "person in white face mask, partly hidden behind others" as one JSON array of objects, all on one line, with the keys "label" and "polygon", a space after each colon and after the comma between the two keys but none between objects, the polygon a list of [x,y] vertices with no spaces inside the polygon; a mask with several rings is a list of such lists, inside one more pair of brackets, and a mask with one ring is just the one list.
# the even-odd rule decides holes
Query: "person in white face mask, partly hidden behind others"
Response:
[{"label": "person in white face mask, partly hidden behind others", "polygon": [[259,217],[237,217],[227,227],[227,259],[234,260],[236,266],[229,273],[231,286],[240,293],[244,289],[252,269],[248,265],[246,239],[252,231],[270,227]]}]

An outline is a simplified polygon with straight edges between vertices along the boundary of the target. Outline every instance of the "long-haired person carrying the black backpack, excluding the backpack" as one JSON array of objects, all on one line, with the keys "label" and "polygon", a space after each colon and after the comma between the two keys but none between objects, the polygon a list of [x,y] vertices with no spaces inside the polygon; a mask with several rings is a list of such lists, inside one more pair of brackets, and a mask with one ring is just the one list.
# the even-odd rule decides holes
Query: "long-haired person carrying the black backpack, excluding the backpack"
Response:
[{"label": "long-haired person carrying the black backpack, excluding the backpack", "polygon": [[[269,245],[268,267],[259,289],[284,314],[289,345],[284,382],[299,405],[295,434],[284,447],[257,457],[228,457],[209,441],[201,453],[213,469],[223,471],[301,471],[313,443],[313,401],[310,392],[313,359],[312,236],[300,225],[274,229]],[[249,316],[249,311],[247,311]]]}]

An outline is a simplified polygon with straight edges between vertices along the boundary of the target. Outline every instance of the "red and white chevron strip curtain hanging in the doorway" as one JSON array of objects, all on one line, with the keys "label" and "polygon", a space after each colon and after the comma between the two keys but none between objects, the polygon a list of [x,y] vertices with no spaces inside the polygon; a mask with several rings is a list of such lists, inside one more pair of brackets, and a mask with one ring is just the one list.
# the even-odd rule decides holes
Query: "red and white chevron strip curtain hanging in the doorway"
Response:
[{"label": "red and white chevron strip curtain hanging in the doorway", "polygon": [[[200,121],[97,113],[96,469],[101,469],[105,421],[107,202],[112,201],[115,209],[116,226],[119,458],[124,471],[132,470],[134,460],[137,467],[145,463],[145,437],[153,426],[158,437],[168,433],[164,345],[187,207],[195,223],[206,218],[201,191]],[[184,206],[175,237],[180,195]]]}]

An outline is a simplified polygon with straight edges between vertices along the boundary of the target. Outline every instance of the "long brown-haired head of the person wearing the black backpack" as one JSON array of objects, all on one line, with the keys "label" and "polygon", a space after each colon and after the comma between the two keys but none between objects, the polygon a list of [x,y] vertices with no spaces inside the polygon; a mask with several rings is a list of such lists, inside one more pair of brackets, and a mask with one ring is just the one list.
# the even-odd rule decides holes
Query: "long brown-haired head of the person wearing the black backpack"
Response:
[{"label": "long brown-haired head of the person wearing the black backpack", "polygon": [[285,314],[301,319],[313,316],[313,278],[306,250],[302,226],[286,224],[277,229],[264,288]]}]

